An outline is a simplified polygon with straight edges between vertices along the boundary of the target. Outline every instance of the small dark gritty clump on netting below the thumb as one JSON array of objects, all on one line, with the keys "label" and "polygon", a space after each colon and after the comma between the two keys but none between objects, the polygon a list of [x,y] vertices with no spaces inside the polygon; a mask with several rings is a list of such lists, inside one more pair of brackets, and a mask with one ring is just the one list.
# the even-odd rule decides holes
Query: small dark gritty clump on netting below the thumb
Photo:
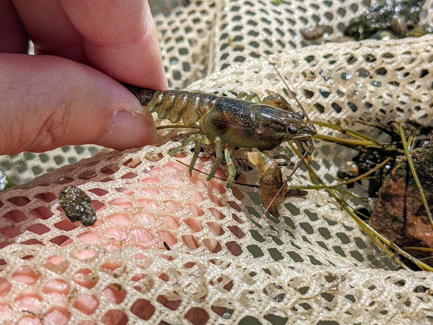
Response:
[{"label": "small dark gritty clump on netting below the thumb", "polygon": [[96,222],[96,212],[90,204],[90,196],[77,186],[65,186],[58,196],[58,201],[72,222],[81,221],[86,227]]}]

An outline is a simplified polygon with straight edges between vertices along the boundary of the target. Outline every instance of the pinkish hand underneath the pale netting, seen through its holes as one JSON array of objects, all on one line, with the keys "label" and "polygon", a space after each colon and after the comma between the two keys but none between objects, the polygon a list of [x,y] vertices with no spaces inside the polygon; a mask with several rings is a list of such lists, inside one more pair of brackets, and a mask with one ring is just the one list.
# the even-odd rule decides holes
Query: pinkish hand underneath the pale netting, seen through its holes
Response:
[{"label": "pinkish hand underneath the pale netting, seen through its holes", "polygon": [[[170,146],[158,150],[166,152]],[[238,226],[246,218],[238,213],[241,209],[226,191],[225,181],[205,181],[212,160],[197,159],[195,167],[204,174],[194,171],[189,177],[188,166],[173,159],[145,161],[146,156],[146,149],[107,153],[105,159],[90,158],[74,170],[40,176],[32,188],[0,192],[1,324],[163,324],[160,320],[171,317],[192,324],[207,322],[204,308],[209,311],[213,294],[204,300],[203,291],[191,287],[211,286],[214,271],[206,271],[213,270],[212,262],[205,260],[208,253],[226,248],[235,256],[242,253],[234,240],[243,235]],[[90,163],[96,161],[97,165]],[[65,183],[55,180],[89,175],[93,168],[101,172],[80,187],[93,199],[98,220],[84,227],[62,212],[57,195]],[[221,169],[216,176],[226,178]],[[73,181],[78,182],[83,180]],[[236,186],[232,191],[243,198]],[[227,210],[229,206],[234,210]],[[164,241],[173,250],[172,257]],[[192,261],[209,265],[195,273]],[[181,278],[168,281],[168,269]],[[190,276],[197,280],[191,287],[185,285]],[[183,299],[179,309],[181,300],[169,294],[177,292]],[[213,309],[221,315],[224,310]]]}]

